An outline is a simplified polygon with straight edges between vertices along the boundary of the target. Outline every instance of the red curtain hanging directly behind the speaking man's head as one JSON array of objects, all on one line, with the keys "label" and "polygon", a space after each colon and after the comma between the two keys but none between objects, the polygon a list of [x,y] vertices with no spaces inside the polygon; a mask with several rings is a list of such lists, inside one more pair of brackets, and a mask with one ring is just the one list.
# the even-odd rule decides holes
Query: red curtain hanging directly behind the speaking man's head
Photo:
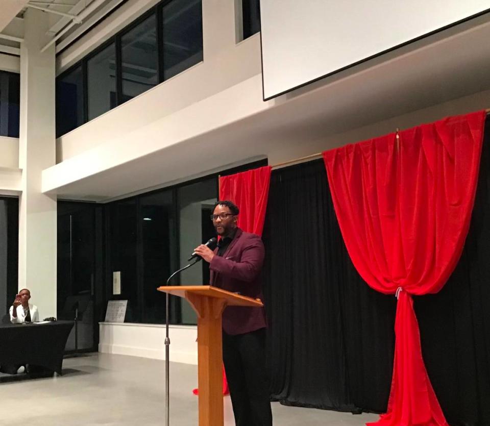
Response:
[{"label": "red curtain hanging directly behind the speaking man's head", "polygon": [[245,232],[262,236],[271,170],[265,166],[219,178],[219,199],[238,206],[238,227]]}]

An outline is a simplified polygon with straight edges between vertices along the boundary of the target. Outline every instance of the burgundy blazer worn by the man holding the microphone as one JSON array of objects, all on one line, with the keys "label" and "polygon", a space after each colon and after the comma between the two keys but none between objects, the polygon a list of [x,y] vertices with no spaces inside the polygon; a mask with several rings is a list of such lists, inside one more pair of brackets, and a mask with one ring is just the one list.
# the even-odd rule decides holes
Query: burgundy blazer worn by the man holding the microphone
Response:
[{"label": "burgundy blazer worn by the man holding the microphone", "polygon": [[[214,254],[217,252],[216,248]],[[260,279],[263,262],[264,244],[260,237],[237,228],[223,256],[214,256],[209,264],[211,285],[263,302]],[[228,306],[223,312],[223,330],[227,334],[250,333],[264,327],[264,308]]]}]

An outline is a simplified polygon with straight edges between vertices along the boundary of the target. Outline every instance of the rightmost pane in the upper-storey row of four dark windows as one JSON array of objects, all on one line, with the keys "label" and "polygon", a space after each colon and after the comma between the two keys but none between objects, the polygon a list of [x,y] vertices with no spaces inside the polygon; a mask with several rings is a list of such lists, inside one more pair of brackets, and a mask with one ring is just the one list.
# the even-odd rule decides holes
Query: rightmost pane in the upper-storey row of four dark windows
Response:
[{"label": "rightmost pane in the upper-storey row of four dark windows", "polygon": [[201,0],[174,0],[163,7],[163,77],[203,60]]}]

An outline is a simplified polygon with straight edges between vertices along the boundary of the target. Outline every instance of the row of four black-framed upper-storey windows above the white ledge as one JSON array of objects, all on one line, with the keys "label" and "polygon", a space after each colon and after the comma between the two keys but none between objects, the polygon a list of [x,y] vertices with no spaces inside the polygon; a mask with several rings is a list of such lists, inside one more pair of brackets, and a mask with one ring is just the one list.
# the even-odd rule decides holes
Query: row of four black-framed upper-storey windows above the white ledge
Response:
[{"label": "row of four black-framed upper-storey windows above the white ledge", "polygon": [[57,137],[201,62],[202,0],[165,0],[108,43],[58,77]]}]

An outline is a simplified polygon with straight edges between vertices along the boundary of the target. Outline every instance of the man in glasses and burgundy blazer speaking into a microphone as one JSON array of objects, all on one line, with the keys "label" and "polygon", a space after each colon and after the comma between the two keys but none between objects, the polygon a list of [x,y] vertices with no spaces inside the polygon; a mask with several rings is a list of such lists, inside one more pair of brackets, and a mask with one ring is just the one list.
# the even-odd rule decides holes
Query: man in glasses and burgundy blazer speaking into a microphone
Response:
[{"label": "man in glasses and burgundy blazer speaking into a microphone", "polygon": [[[211,220],[221,237],[214,252],[204,244],[195,253],[209,262],[211,285],[263,300],[260,271],[264,245],[258,235],[237,227],[239,210],[218,201]],[[223,312],[223,362],[236,426],[272,426],[265,371],[264,308],[229,306]]]}]

